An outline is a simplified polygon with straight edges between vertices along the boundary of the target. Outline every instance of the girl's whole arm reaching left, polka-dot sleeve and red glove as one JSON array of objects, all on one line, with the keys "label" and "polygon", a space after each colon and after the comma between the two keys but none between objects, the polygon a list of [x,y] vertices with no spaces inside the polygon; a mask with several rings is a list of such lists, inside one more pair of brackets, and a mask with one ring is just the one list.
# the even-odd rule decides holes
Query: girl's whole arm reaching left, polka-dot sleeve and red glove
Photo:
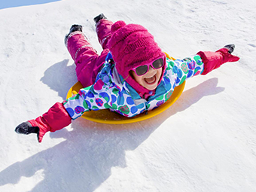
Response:
[{"label": "girl's whole arm reaching left, polka-dot sleeve and red glove", "polygon": [[[46,113],[37,117],[35,120],[28,120],[18,125],[15,129],[17,133],[28,135],[37,133],[38,142],[41,142],[44,134],[55,132],[68,126],[72,120],[80,117],[84,111],[111,108],[111,96],[103,87],[97,92],[98,88],[104,83],[99,79],[89,90],[81,89],[77,95],[60,103],[56,102]],[[94,89],[96,88],[96,90]],[[95,95],[94,95],[95,94]],[[91,101],[93,100],[93,103]],[[97,104],[97,102],[100,102]]]}]

